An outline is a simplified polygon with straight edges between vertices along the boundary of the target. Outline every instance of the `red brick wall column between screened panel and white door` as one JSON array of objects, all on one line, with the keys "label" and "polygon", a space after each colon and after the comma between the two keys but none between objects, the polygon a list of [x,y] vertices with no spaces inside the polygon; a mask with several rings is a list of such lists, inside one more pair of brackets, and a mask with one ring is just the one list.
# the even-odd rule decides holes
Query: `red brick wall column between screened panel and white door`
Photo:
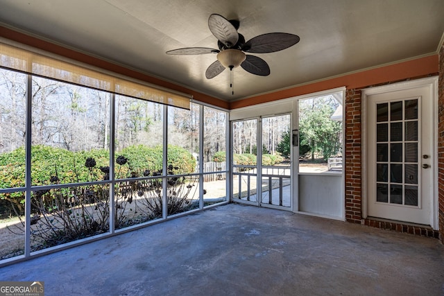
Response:
[{"label": "red brick wall column between screened panel and white door", "polygon": [[361,223],[361,90],[345,93],[345,220]]}]

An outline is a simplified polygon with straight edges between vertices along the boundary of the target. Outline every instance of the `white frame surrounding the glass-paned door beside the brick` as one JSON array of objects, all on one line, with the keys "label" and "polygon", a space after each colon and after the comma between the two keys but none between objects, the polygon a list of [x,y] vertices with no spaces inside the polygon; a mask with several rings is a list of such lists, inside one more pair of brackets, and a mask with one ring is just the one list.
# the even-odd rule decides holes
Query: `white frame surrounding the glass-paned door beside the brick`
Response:
[{"label": "white frame surrounding the glass-paned door beside the brick", "polygon": [[416,87],[428,87],[430,92],[430,97],[432,98],[432,151],[434,155],[434,161],[432,164],[432,175],[433,175],[433,186],[432,186],[432,200],[430,202],[432,209],[430,213],[430,225],[433,229],[438,230],[438,76],[432,78],[422,78],[418,80],[406,81],[394,83],[393,85],[384,85],[381,87],[371,87],[368,89],[363,89],[361,94],[361,207],[362,207],[362,218],[367,218],[367,189],[368,189],[368,176],[367,176],[367,125],[368,116],[366,104],[368,101],[368,96],[374,94],[384,94],[387,92],[395,92],[404,89],[411,89]]}]

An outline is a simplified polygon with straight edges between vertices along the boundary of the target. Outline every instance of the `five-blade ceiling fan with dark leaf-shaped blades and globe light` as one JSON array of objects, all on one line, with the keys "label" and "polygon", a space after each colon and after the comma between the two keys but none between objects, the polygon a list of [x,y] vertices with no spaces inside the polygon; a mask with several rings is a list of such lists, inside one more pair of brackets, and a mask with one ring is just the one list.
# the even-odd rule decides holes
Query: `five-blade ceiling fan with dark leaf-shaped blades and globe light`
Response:
[{"label": "five-blade ceiling fan with dark leaf-shaped blades and globe light", "polygon": [[[207,79],[214,78],[222,73],[225,68],[232,70],[239,65],[246,71],[259,75],[268,76],[270,67],[255,55],[245,53],[274,53],[282,51],[298,43],[298,35],[289,33],[267,33],[262,34],[245,42],[243,35],[237,32],[239,21],[228,20],[221,15],[212,14],[208,18],[208,27],[214,37],[217,38],[219,49],[207,47],[187,47],[184,49],[173,49],[167,51],[169,55],[201,55],[206,53],[217,53],[217,60],[210,64],[205,71]],[[232,87],[232,82],[230,87]]]}]

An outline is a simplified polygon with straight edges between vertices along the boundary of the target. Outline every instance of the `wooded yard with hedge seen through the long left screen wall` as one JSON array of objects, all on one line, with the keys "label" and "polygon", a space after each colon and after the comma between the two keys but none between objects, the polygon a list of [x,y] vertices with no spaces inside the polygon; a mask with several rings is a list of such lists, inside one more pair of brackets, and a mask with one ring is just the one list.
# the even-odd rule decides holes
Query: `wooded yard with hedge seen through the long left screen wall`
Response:
[{"label": "wooded yard with hedge seen through the long left screen wall", "polygon": [[110,221],[119,229],[226,200],[227,168],[212,161],[225,153],[227,119],[196,103],[184,110],[0,69],[0,258],[24,254],[27,190],[31,252],[107,233]]}]

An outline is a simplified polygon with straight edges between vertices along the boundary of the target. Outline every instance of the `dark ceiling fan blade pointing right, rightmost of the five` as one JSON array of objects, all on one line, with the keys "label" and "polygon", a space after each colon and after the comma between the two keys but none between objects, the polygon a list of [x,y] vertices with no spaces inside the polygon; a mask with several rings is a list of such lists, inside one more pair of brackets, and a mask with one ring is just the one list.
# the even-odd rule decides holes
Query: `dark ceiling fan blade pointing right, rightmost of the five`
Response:
[{"label": "dark ceiling fan blade pointing right, rightmost of the five", "polygon": [[282,51],[298,43],[298,35],[289,33],[268,33],[256,36],[248,40],[242,50],[248,53],[274,53]]}]

